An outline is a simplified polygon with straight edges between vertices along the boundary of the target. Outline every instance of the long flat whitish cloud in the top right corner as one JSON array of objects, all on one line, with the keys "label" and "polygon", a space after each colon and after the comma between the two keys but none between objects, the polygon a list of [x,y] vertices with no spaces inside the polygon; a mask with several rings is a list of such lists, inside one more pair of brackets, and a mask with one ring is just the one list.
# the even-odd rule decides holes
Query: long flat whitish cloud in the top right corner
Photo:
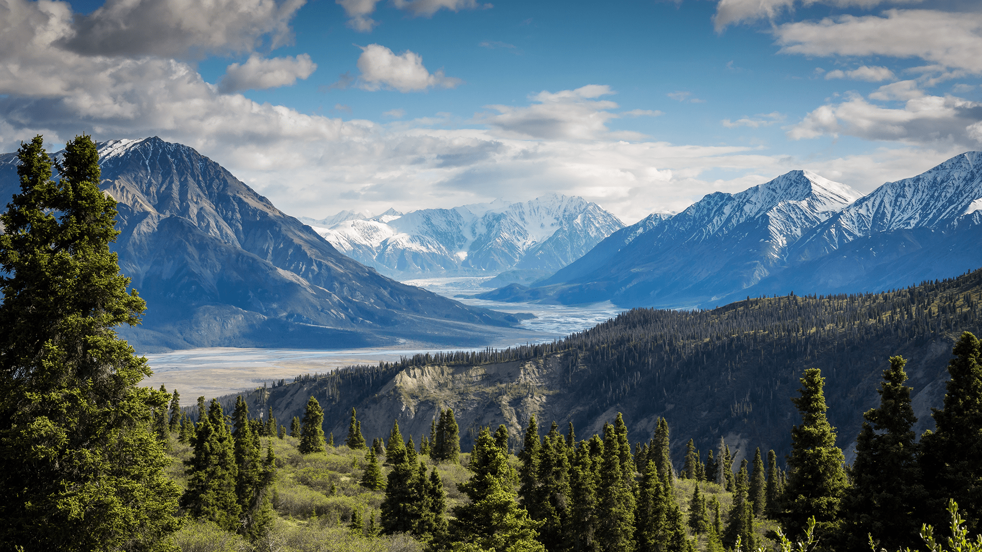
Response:
[{"label": "long flat whitish cloud in the top right corner", "polygon": [[982,73],[982,14],[887,10],[881,16],[844,15],[774,28],[781,52],[806,56],[921,58]]}]

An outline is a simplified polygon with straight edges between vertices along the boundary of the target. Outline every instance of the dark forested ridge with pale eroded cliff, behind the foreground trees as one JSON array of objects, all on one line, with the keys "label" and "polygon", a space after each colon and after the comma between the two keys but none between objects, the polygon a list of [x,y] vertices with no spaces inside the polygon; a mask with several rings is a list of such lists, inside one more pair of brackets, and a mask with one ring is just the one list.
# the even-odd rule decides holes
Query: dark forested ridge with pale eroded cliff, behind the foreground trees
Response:
[{"label": "dark forested ridge with pale eroded cliff, behind the foreground trees", "polygon": [[[249,392],[253,410],[300,415],[310,396],[324,409],[324,432],[346,434],[352,408],[367,439],[425,434],[440,409],[453,409],[463,448],[482,426],[504,423],[513,449],[534,414],[580,439],[624,415],[631,442],[651,438],[659,416],[672,429],[681,467],[685,443],[703,451],[721,437],[740,458],[756,447],[784,458],[799,415],[801,373],[822,369],[829,421],[851,461],[862,413],[879,404],[890,357],[907,359],[906,385],[920,435],[933,428],[961,332],[982,331],[982,270],[895,292],[743,300],[711,310],[638,308],[553,343],[505,351],[416,355],[351,367]],[[223,398],[229,407],[235,396]],[[738,451],[738,452],[737,452]]]}]

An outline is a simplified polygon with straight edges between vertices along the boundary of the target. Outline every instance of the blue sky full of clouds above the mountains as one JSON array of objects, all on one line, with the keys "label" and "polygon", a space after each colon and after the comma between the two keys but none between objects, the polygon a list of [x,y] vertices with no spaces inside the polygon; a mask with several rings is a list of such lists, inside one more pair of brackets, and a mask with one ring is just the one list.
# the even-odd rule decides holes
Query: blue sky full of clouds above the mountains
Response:
[{"label": "blue sky full of clouds above the mountains", "polygon": [[0,0],[0,150],[159,136],[313,218],[869,193],[982,149],[980,78],[977,0]]}]

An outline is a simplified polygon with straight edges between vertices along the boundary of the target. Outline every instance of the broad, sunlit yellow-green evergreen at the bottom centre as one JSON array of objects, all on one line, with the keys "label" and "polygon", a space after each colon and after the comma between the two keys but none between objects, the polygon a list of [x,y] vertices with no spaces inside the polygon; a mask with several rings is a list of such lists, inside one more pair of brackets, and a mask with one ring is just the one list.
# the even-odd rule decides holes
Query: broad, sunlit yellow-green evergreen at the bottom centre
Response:
[{"label": "broad, sunlit yellow-green evergreen at the bottom centre", "polygon": [[465,552],[538,552],[545,548],[536,540],[538,523],[518,506],[513,488],[514,474],[508,459],[484,428],[471,452],[470,480],[458,487],[470,499],[454,509],[450,524],[451,549]]}]

